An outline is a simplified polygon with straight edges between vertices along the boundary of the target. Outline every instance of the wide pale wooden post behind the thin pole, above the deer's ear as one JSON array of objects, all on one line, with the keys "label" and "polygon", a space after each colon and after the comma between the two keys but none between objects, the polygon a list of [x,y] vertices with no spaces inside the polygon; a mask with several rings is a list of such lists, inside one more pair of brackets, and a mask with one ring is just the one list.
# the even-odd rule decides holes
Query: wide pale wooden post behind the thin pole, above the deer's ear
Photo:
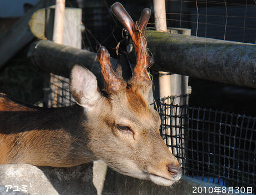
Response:
[{"label": "wide pale wooden post behind the thin pole, above the deer's ear", "polygon": [[[56,39],[57,42],[62,42],[66,46],[76,47],[81,49],[82,37],[80,24],[82,19],[82,11],[78,8],[65,8],[65,11],[58,13],[62,14],[62,17],[57,22],[63,22],[63,24],[57,24],[57,26],[63,26],[62,32],[59,30],[54,31],[55,28],[55,6],[46,8],[46,32],[45,36],[48,40]],[[59,16],[60,18],[60,16]],[[60,34],[56,34],[60,33]],[[47,73],[46,73],[47,74]],[[62,81],[61,81],[62,80]],[[50,83],[49,83],[50,81]],[[68,88],[68,79],[56,76],[51,73],[51,75],[47,74],[45,76],[45,94],[46,100],[45,103],[48,107],[58,107],[58,106],[69,106],[70,96],[69,88]],[[49,86],[53,83],[52,91],[49,92]],[[61,105],[58,104],[61,100]]]}]

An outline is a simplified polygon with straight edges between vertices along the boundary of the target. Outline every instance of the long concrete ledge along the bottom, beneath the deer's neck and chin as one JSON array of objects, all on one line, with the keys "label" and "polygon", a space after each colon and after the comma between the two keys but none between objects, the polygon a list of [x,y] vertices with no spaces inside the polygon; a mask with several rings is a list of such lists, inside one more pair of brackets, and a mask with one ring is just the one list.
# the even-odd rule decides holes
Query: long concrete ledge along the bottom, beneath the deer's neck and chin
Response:
[{"label": "long concrete ledge along the bottom, beneath the deer's neck and chin", "polygon": [[[1,195],[82,195],[82,194],[141,194],[141,195],[191,195],[191,194],[228,194],[210,193],[209,188],[220,187],[198,179],[183,177],[173,187],[157,186],[150,181],[123,176],[98,163],[82,164],[70,168],[36,167],[30,164],[0,165]],[[106,181],[102,176],[106,174]],[[94,177],[93,177],[94,176]],[[104,184],[104,187],[103,187]],[[8,189],[10,185],[12,188]],[[201,187],[203,192],[197,189]],[[97,193],[97,190],[98,193]],[[103,189],[102,189],[103,188]],[[16,192],[16,190],[19,190]],[[196,189],[196,190],[195,190]],[[205,190],[208,193],[205,193]],[[23,190],[23,191],[22,191]],[[27,191],[27,192],[25,192]],[[193,193],[197,192],[197,193]],[[232,193],[230,193],[232,194]],[[233,193],[240,194],[240,193]],[[245,193],[243,193],[245,194]],[[240,194],[242,195],[242,194]]]}]

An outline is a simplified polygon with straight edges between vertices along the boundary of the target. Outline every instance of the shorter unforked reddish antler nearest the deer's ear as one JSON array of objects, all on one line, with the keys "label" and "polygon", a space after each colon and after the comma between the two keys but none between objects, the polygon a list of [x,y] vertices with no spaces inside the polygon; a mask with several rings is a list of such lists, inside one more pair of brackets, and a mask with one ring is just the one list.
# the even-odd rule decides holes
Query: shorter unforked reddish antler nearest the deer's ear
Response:
[{"label": "shorter unforked reddish antler nearest the deer's ear", "polygon": [[110,63],[110,54],[104,46],[101,46],[97,58],[100,63],[101,73],[104,78],[106,92],[109,94],[115,93],[122,88],[126,88],[126,83],[123,79],[117,77]]}]

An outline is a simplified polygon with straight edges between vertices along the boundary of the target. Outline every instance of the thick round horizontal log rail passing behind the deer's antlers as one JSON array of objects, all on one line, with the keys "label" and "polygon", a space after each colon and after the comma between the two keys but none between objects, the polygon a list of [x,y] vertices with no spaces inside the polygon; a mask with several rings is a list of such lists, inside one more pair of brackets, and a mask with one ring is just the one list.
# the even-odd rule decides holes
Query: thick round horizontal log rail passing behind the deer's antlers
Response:
[{"label": "thick round horizontal log rail passing behind the deer's antlers", "polygon": [[[254,44],[156,31],[146,31],[146,39],[154,57],[153,71],[256,88]],[[81,63],[96,76],[101,76],[96,53],[84,49],[38,41],[32,43],[28,56],[37,67],[61,76],[68,77],[74,63]],[[111,58],[114,69],[116,63],[116,59]]]}]

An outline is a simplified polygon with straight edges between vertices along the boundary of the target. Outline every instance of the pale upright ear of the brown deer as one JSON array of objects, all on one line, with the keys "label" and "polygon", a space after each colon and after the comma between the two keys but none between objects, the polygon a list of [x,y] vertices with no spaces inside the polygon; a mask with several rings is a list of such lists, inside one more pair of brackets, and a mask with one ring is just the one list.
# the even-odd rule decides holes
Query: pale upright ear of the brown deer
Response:
[{"label": "pale upright ear of the brown deer", "polygon": [[96,77],[79,64],[75,64],[71,70],[70,91],[76,102],[87,109],[92,108],[100,98]]}]

